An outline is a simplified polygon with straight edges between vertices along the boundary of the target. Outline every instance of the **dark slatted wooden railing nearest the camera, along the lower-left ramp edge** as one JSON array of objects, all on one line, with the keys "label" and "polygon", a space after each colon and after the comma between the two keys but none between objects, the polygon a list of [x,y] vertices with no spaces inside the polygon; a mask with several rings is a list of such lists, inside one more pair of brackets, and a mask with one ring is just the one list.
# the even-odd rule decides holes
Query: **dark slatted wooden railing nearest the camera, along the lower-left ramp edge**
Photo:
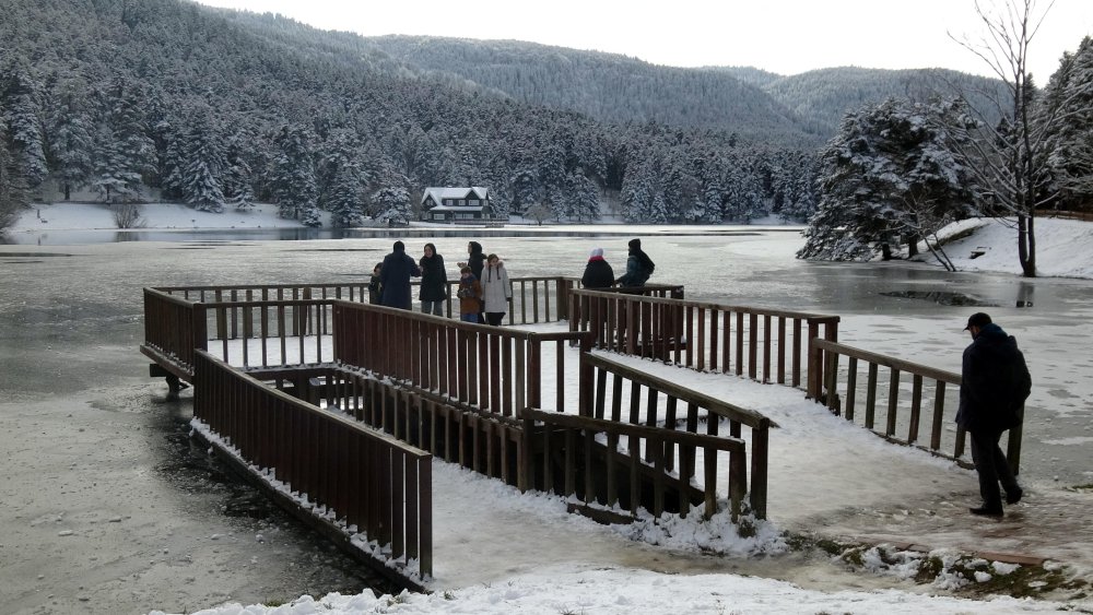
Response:
[{"label": "dark slatted wooden railing nearest the camera, along the lower-left ramp edge", "polygon": [[[248,464],[432,576],[432,456],[196,354],[193,416]],[[304,507],[306,508],[306,507]]]}]

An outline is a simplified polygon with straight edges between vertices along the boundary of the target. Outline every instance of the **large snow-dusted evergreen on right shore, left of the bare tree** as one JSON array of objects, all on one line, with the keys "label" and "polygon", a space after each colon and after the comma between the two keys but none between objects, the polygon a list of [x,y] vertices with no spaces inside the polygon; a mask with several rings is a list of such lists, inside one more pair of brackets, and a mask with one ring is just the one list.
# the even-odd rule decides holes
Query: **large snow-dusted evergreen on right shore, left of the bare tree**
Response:
[{"label": "large snow-dusted evergreen on right shore, left of the bare tree", "polygon": [[954,152],[969,121],[960,100],[890,98],[849,114],[820,154],[820,208],[798,257],[868,259],[966,216],[974,180]]}]

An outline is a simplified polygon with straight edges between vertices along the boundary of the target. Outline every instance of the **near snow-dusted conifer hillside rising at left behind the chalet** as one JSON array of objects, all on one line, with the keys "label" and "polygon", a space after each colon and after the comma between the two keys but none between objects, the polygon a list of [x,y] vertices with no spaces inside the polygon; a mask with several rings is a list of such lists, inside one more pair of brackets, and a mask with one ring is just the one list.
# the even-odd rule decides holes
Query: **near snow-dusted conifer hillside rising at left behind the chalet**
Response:
[{"label": "near snow-dusted conifer hillside rising at left behind the chalet", "polygon": [[0,4],[0,199],[58,198],[47,179],[122,202],[155,187],[202,210],[259,199],[342,225],[407,220],[423,188],[468,184],[503,211],[560,220],[595,218],[604,191],[640,222],[814,206],[811,149],[609,125],[434,79],[353,35],[254,17],[183,0]]}]

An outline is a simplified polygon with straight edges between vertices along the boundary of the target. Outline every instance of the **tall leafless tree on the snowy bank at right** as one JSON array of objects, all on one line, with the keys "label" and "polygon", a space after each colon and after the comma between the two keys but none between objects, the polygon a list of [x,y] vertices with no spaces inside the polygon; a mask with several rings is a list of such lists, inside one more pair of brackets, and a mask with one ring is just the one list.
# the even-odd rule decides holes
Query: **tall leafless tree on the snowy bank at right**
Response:
[{"label": "tall leafless tree on the snowy bank at right", "polygon": [[[1003,0],[976,13],[986,26],[978,39],[950,37],[968,49],[1006,84],[1006,97],[995,97],[999,122],[980,122],[979,139],[969,141],[973,170],[990,191],[994,204],[1016,217],[1018,258],[1026,277],[1036,276],[1036,208],[1053,198],[1047,127],[1054,117],[1034,113],[1036,87],[1027,71],[1029,47],[1055,3],[1039,11],[1036,0]],[[1048,116],[1050,113],[1047,114]]]}]

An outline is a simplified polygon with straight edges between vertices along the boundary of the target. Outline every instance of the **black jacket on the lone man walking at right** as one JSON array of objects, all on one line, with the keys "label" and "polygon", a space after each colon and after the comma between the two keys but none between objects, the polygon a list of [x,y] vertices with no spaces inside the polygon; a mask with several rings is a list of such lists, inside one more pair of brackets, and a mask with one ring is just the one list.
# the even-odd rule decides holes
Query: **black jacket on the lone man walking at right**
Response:
[{"label": "black jacket on the lone man walking at right", "polygon": [[1032,378],[1018,342],[987,324],[964,348],[956,424],[968,431],[1004,431],[1021,422]]}]

